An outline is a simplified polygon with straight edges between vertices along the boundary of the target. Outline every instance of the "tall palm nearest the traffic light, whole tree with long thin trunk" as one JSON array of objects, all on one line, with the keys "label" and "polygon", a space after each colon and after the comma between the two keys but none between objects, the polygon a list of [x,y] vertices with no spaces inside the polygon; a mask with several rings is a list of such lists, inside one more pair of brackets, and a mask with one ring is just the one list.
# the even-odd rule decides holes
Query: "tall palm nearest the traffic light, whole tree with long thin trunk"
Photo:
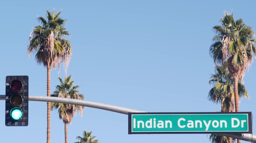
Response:
[{"label": "tall palm nearest the traffic light, whole tree with long thin trunk", "polygon": [[[31,31],[28,41],[27,52],[29,56],[36,53],[36,62],[40,65],[43,64],[47,68],[47,96],[51,93],[51,69],[55,68],[58,64],[58,69],[61,63],[64,63],[67,68],[72,49],[70,42],[63,36],[70,35],[64,28],[66,20],[60,17],[61,11],[55,14],[53,9],[52,13],[48,10],[47,19],[38,17],[38,21],[42,26],[35,26]],[[50,127],[51,127],[51,103],[47,102],[47,143],[50,143]]]}]

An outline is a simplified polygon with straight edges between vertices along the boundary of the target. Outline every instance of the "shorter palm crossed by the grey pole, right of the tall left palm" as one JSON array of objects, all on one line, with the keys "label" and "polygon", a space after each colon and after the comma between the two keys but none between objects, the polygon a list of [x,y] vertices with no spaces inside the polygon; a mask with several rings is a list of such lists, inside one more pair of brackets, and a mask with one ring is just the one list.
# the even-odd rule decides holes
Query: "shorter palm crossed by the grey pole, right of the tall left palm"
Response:
[{"label": "shorter palm crossed by the grey pole, right of the tall left palm", "polygon": [[[71,75],[63,80],[58,77],[61,82],[61,85],[56,86],[56,90],[51,96],[59,98],[72,98],[83,100],[83,94],[79,93],[77,90],[79,86],[74,86],[74,81],[71,79]],[[63,103],[51,103],[51,110],[57,109],[59,113],[59,118],[63,120],[65,125],[65,143],[67,143],[67,124],[72,123],[72,119],[76,112],[79,110],[80,115],[82,116],[83,106],[72,105],[72,104],[63,104]]]}]

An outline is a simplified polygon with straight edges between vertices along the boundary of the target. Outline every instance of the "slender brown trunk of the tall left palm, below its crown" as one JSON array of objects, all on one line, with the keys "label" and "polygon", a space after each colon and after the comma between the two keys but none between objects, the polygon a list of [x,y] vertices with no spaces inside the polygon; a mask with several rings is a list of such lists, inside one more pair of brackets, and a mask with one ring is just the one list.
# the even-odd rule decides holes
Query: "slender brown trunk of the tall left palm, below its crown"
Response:
[{"label": "slender brown trunk of the tall left palm, below its crown", "polygon": [[[47,96],[51,96],[51,69],[47,67]],[[47,143],[51,142],[51,102],[47,102]]]}]

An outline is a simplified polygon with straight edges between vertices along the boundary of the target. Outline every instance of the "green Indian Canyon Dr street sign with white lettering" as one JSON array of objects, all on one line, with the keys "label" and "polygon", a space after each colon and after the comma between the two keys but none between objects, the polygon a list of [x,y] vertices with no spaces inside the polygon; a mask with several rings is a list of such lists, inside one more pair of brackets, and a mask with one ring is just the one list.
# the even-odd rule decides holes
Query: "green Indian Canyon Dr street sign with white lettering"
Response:
[{"label": "green Indian Canyon Dr street sign with white lettering", "polygon": [[129,134],[252,133],[252,113],[128,113]]}]

